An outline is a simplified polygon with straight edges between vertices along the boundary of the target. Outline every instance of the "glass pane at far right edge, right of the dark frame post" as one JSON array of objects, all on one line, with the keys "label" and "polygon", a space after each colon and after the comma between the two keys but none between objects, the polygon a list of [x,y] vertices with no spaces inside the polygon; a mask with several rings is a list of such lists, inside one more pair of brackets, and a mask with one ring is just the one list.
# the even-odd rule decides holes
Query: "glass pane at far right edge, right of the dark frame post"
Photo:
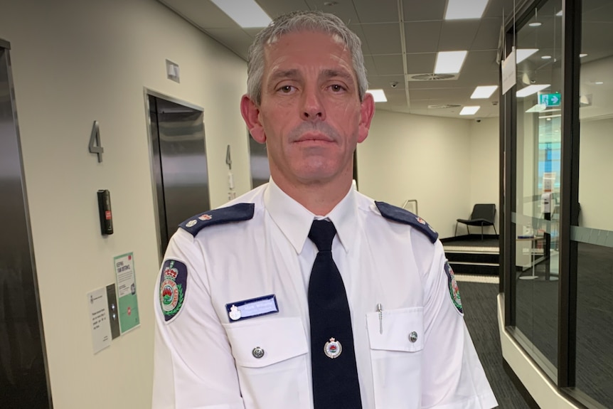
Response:
[{"label": "glass pane at far right edge, right of the dark frame post", "polygon": [[576,386],[613,408],[612,1],[582,1],[580,62]]}]

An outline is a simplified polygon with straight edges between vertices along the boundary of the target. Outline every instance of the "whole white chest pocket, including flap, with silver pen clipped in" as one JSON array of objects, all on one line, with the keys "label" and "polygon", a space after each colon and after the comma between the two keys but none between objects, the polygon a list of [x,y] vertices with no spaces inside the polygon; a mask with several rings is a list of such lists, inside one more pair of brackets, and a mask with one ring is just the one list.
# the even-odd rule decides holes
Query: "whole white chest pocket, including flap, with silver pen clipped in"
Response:
[{"label": "whole white chest pocket, including flap, with silver pen clipped in", "polygon": [[366,322],[375,408],[420,408],[425,338],[423,307],[384,310],[382,319],[378,312],[369,313]]}]

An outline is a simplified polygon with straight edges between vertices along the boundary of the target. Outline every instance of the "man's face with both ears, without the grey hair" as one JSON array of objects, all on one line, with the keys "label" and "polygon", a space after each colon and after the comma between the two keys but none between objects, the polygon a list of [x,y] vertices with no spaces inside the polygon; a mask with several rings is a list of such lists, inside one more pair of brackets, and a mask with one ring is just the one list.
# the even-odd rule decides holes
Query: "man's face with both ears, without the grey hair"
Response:
[{"label": "man's face with both ears, without the grey hair", "polygon": [[247,97],[242,115],[267,144],[274,181],[292,186],[351,180],[353,151],[366,139],[374,111],[363,102],[351,54],[327,33],[287,33],[265,47],[262,101]]}]

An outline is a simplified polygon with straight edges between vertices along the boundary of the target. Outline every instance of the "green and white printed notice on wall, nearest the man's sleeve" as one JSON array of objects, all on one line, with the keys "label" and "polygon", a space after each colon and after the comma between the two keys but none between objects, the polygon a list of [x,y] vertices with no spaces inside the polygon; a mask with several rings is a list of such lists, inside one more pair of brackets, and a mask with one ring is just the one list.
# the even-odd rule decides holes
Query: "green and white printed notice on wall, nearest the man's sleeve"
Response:
[{"label": "green and white printed notice on wall, nearest the man's sleeve", "polygon": [[140,325],[134,255],[127,253],[114,257],[113,265],[117,280],[119,328],[123,334]]}]

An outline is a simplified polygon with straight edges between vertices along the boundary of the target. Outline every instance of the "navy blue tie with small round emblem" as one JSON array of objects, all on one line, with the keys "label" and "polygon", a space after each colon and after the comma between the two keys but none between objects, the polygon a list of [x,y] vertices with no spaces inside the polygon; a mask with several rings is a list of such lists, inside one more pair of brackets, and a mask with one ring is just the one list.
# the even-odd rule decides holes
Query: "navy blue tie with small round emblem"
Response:
[{"label": "navy blue tie with small round emblem", "polygon": [[313,221],[319,250],[309,280],[311,368],[315,409],[361,409],[351,314],[343,278],[332,260],[334,224]]}]

